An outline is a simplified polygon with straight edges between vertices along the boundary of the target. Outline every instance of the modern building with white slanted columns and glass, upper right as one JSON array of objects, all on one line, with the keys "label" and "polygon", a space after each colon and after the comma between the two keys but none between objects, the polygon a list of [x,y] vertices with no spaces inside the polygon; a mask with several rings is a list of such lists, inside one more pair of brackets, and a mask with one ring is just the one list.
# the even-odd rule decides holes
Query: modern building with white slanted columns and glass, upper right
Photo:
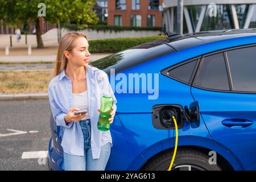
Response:
[{"label": "modern building with white slanted columns and glass, upper right", "polygon": [[[183,32],[256,28],[256,0],[184,0]],[[164,0],[166,30],[177,31],[177,0]]]}]

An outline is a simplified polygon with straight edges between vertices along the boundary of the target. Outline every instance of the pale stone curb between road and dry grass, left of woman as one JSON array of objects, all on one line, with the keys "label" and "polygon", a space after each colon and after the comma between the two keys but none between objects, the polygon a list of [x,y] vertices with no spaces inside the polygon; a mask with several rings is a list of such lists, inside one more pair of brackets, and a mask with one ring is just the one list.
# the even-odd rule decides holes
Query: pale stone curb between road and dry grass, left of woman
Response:
[{"label": "pale stone curb between road and dry grass, left of woman", "polygon": [[0,94],[0,101],[48,100],[48,93]]}]

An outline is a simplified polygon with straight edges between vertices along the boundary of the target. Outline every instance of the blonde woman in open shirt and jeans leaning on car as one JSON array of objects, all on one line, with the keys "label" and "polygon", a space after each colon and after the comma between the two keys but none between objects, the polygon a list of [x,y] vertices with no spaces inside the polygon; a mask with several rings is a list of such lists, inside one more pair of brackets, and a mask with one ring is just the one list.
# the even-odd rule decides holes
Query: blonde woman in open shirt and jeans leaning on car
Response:
[{"label": "blonde woman in open shirt and jeans leaning on car", "polygon": [[[97,129],[100,97],[109,88],[114,98],[109,118],[113,122],[117,109],[115,96],[108,75],[90,67],[86,35],[70,32],[60,40],[55,64],[55,77],[49,82],[48,97],[57,126],[63,126],[65,170],[104,170],[112,147],[110,131]],[[103,85],[103,86],[102,86]],[[104,88],[105,85],[105,88]],[[86,114],[74,115],[73,111],[88,110]]]}]

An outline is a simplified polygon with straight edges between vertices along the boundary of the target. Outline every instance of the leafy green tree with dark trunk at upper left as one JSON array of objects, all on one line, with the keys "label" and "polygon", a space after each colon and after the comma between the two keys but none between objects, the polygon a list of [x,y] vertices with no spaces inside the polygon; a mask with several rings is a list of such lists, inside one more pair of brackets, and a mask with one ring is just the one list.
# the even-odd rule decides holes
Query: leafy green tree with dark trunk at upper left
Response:
[{"label": "leafy green tree with dark trunk at upper left", "polygon": [[46,22],[63,26],[71,20],[80,28],[98,23],[96,11],[92,10],[95,0],[0,0],[0,2],[0,19],[6,17],[10,24],[17,24],[18,21],[25,23],[28,20],[36,24],[38,48],[44,47],[38,15],[40,3],[46,5],[46,16],[44,16]]}]

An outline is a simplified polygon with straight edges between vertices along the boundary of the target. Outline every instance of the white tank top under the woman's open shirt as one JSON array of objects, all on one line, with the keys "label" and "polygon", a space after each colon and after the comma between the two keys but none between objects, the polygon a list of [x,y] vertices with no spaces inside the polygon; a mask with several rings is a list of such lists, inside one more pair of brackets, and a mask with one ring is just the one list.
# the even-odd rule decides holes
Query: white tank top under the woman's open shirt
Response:
[{"label": "white tank top under the woman's open shirt", "polygon": [[81,120],[84,119],[89,119],[89,107],[88,107],[88,94],[87,90],[82,93],[72,93],[72,107],[77,107],[80,110],[87,110],[88,115],[86,117],[82,118]]}]

